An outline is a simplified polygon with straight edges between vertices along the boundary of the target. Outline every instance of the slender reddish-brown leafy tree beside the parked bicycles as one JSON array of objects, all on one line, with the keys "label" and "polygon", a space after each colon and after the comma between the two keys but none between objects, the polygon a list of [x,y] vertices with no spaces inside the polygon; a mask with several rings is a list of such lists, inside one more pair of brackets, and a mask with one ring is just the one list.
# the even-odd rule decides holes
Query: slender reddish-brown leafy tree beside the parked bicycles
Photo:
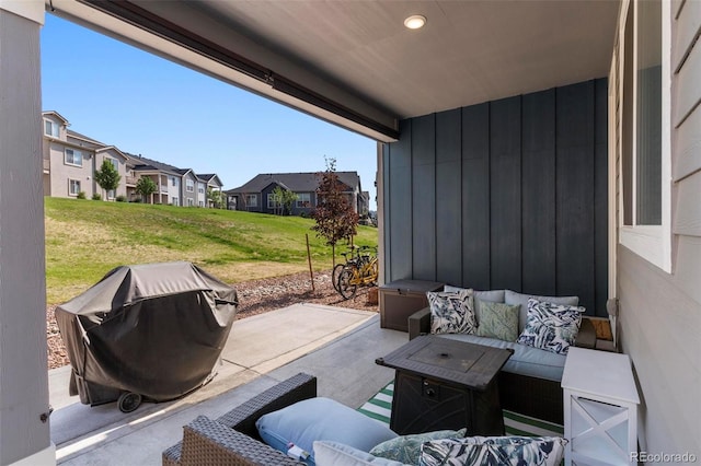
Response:
[{"label": "slender reddish-brown leafy tree beside the parked bicycles", "polygon": [[311,229],[318,237],[326,240],[331,246],[333,265],[336,264],[336,243],[341,240],[350,242],[357,233],[358,214],[353,209],[350,200],[343,194],[343,184],[336,174],[336,160],[326,159],[326,171],[318,174],[317,208],[312,218],[317,224]]}]

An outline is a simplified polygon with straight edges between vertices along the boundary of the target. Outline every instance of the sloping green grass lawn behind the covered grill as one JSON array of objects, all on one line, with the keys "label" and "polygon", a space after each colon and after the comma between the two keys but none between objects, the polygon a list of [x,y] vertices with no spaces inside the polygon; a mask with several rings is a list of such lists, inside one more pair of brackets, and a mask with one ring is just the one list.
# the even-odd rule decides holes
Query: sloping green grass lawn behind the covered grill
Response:
[{"label": "sloping green grass lawn behind the covered grill", "polygon": [[[187,260],[229,283],[330,269],[314,221],[216,209],[45,198],[47,303],[82,293],[122,265]],[[378,231],[358,226],[357,245]],[[336,248],[345,251],[345,244]]]}]

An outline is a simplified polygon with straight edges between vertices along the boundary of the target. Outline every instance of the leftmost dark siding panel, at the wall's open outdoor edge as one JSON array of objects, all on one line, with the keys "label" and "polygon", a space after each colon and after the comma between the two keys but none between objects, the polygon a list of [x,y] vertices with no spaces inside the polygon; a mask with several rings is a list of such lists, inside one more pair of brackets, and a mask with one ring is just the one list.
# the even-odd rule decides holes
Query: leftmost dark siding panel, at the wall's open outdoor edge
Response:
[{"label": "leftmost dark siding panel, at the wall's open outdoor edge", "polygon": [[400,121],[400,139],[390,148],[387,172],[389,191],[387,235],[391,240],[387,281],[412,278],[412,120]]}]

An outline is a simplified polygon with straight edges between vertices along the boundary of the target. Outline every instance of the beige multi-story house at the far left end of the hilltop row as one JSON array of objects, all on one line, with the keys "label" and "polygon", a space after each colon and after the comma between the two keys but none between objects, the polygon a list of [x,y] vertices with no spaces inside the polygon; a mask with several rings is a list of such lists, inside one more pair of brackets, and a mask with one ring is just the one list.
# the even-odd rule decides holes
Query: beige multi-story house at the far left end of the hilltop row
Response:
[{"label": "beige multi-story house at the far left end of the hilltop row", "polygon": [[126,195],[126,184],[116,190],[103,193],[95,183],[94,173],[108,160],[119,175],[126,177],[127,156],[114,145],[95,141],[68,129],[69,121],[58,112],[43,112],[43,186],[44,195],[51,197],[78,197],[83,193],[114,199]]}]

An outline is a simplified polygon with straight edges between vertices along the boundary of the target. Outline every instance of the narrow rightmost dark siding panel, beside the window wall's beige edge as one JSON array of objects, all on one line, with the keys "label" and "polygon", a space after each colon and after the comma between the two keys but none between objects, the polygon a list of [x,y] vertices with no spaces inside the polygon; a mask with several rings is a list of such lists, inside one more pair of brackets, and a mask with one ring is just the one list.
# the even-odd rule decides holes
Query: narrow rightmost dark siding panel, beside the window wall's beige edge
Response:
[{"label": "narrow rightmost dark siding panel, beside the window wall's beige edge", "polygon": [[595,81],[594,104],[594,314],[608,317],[609,298],[609,144],[608,79]]}]

